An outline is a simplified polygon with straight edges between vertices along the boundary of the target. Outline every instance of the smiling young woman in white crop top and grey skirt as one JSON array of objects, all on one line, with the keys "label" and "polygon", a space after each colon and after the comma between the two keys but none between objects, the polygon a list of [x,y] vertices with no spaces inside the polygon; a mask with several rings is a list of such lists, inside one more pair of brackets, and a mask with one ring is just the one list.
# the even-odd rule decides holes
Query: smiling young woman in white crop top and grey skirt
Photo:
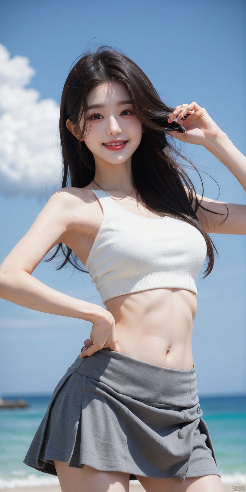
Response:
[{"label": "smiling young woman in white crop top and grey skirt", "polygon": [[[246,206],[198,195],[169,137],[206,147],[245,189],[246,158],[206,109],[169,108],[108,46],[71,69],[60,135],[62,188],[0,265],[0,295],[90,321],[92,331],[24,462],[58,475],[62,492],[129,491],[129,479],[147,492],[223,491],[199,405],[192,327],[198,273],[206,257],[204,277],[214,265],[208,234],[246,234]],[[60,247],[60,268],[79,268],[78,258],[106,309],[31,276],[56,245],[48,261]]]}]

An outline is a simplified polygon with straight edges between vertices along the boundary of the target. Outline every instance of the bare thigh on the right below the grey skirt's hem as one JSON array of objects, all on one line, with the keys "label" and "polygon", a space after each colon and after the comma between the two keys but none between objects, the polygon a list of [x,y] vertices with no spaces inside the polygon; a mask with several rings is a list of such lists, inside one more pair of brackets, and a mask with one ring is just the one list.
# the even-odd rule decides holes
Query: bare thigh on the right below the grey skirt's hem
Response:
[{"label": "bare thigh on the right below the grey skirt's hem", "polygon": [[136,475],[146,492],[225,492],[218,475],[177,478],[151,478]]}]

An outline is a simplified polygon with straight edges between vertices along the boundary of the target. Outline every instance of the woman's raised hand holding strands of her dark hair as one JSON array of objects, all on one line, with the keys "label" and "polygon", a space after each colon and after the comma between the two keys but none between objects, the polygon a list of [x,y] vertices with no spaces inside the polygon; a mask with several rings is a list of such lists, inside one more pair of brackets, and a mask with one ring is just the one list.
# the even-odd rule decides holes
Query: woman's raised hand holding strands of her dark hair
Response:
[{"label": "woman's raised hand holding strands of her dark hair", "polygon": [[[186,119],[183,120],[184,116]],[[216,125],[214,120],[210,118],[205,108],[201,108],[196,102],[190,104],[182,104],[176,106],[175,110],[170,114],[168,123],[174,121],[177,116],[176,123],[180,123],[185,128],[185,132],[181,133],[176,130],[165,130],[168,135],[195,145],[208,145],[209,142],[215,141],[224,132]]]}]

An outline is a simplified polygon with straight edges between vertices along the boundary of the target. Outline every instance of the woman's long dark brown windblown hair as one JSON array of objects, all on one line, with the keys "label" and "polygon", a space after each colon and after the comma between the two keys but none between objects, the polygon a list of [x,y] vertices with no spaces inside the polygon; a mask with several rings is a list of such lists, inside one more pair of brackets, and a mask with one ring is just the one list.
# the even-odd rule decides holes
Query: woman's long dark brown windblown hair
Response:
[{"label": "woman's long dark brown windblown hair", "polygon": [[[133,112],[137,119],[142,122],[144,130],[142,140],[131,158],[131,180],[136,189],[137,201],[141,198],[141,202],[150,211],[164,212],[166,215],[177,217],[193,225],[201,232],[207,244],[209,260],[204,272],[205,275],[202,277],[205,278],[211,273],[214,266],[213,246],[217,256],[218,252],[213,241],[197,219],[196,211],[199,203],[195,188],[184,168],[178,163],[178,157],[181,156],[189,162],[199,176],[200,173],[189,159],[180,154],[179,149],[171,145],[168,139],[172,139],[172,137],[165,132],[165,129],[168,128],[184,132],[184,128],[179,123],[173,122],[170,125],[167,122],[174,108],[166,106],[161,101],[151,81],[135,62],[111,46],[104,45],[98,47],[95,52],[87,52],[73,66],[65,81],[60,109],[62,188],[66,186],[83,188],[90,184],[94,178],[95,161],[93,154],[86,144],[80,141],[87,129],[87,97],[92,88],[112,80],[123,83],[128,90],[132,98]],[[77,139],[67,129],[66,120],[69,118],[71,123],[79,124],[83,116],[84,124]],[[184,185],[188,188],[188,196]],[[204,190],[203,183],[202,190]],[[193,191],[195,210],[191,206]],[[200,208],[207,210],[202,205]],[[209,212],[218,214],[218,212]],[[66,247],[66,250],[63,249],[63,246]],[[53,256],[45,261],[51,261],[60,248],[62,248],[65,260],[57,270],[60,270],[69,261],[76,269],[89,273],[78,266],[78,258],[75,253],[62,243],[58,245]]]}]

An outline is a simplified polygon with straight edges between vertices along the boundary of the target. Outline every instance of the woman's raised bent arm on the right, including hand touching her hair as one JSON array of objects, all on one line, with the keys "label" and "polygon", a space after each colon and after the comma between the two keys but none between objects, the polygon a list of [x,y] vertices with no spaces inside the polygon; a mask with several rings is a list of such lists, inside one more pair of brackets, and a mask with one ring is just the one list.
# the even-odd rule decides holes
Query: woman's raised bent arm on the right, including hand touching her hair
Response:
[{"label": "woman's raised bent arm on the right, including hand touching her hair", "polygon": [[[175,110],[170,114],[168,123],[173,122],[175,118],[176,123],[184,126],[185,132],[166,130],[168,134],[182,142],[203,145],[231,171],[246,191],[246,156],[241,154],[226,133],[212,120],[206,109],[201,108],[196,102],[182,104],[181,106],[176,106]],[[186,187],[185,189],[188,193]],[[199,204],[214,212],[222,213],[223,206],[226,205],[228,207],[229,215],[223,223],[221,223],[221,220],[226,215],[223,217],[223,215],[210,214],[198,208],[196,215],[206,232],[246,234],[246,205],[219,202],[198,194],[196,196]],[[194,201],[192,206],[194,207]]]}]

